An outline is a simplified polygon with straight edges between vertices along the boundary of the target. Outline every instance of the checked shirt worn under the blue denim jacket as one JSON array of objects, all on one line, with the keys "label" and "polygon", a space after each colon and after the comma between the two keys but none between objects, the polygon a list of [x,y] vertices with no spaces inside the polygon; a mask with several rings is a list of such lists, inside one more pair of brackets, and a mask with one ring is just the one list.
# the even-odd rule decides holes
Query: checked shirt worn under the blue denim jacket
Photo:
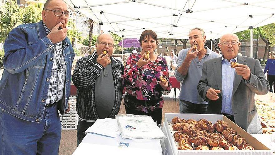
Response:
[{"label": "checked shirt worn under the blue denim jacket", "polygon": [[[49,34],[51,30],[47,26],[43,25],[46,29],[46,33]],[[46,104],[53,104],[59,101],[63,96],[63,88],[66,79],[66,64],[63,56],[62,42],[55,43],[54,45],[54,56],[50,60],[53,61],[53,70],[51,74],[50,85],[48,90],[48,96]]]}]

